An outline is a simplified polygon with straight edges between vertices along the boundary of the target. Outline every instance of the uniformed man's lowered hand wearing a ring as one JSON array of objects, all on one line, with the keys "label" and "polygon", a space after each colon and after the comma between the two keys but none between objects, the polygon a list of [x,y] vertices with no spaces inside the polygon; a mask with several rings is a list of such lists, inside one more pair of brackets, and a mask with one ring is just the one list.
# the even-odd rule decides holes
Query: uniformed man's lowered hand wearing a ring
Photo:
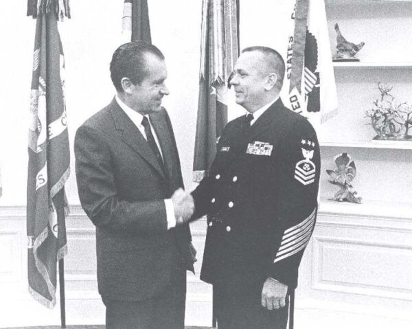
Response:
[{"label": "uniformed man's lowered hand wearing a ring", "polygon": [[268,310],[279,310],[286,305],[288,286],[268,277],[262,288],[262,306]]}]

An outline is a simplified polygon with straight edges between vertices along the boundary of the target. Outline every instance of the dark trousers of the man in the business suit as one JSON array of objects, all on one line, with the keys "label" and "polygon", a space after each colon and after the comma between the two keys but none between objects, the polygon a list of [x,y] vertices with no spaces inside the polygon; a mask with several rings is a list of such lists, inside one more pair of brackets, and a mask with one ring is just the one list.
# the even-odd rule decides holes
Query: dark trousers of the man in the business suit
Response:
[{"label": "dark trousers of the man in the business suit", "polygon": [[139,302],[103,299],[106,329],[183,329],[185,326],[186,271],[155,297]]}]

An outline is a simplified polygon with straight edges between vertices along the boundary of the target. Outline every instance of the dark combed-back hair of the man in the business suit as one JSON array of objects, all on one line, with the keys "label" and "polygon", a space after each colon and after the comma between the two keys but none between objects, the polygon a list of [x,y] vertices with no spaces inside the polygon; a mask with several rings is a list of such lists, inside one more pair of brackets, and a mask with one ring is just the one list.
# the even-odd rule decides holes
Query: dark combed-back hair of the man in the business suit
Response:
[{"label": "dark combed-back hair of the man in the business suit", "polygon": [[157,56],[160,60],[165,59],[159,48],[144,41],[125,43],[115,50],[110,73],[117,91],[123,91],[122,78],[129,78],[133,84],[141,84],[146,78],[146,54]]}]

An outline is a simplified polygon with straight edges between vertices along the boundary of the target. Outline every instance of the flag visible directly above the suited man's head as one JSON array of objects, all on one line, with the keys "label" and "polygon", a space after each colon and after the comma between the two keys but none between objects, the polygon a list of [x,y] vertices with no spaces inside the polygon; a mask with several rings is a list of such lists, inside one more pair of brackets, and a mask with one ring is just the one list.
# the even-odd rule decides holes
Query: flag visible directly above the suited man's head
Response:
[{"label": "flag visible directly above the suited man's head", "polygon": [[152,43],[148,0],[124,0],[122,34],[124,42],[141,40]]}]

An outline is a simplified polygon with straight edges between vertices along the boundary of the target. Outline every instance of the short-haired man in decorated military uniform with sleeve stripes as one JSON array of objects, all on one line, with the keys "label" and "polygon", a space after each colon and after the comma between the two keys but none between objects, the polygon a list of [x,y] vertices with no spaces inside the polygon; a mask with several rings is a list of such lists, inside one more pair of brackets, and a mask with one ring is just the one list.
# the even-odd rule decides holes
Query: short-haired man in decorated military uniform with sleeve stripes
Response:
[{"label": "short-haired man in decorated military uniform with sleeve stripes", "polygon": [[314,228],[319,143],[279,98],[284,72],[275,50],[242,51],[230,84],[249,114],[227,124],[192,193],[194,218],[209,214],[201,279],[214,285],[219,329],[286,328]]}]

